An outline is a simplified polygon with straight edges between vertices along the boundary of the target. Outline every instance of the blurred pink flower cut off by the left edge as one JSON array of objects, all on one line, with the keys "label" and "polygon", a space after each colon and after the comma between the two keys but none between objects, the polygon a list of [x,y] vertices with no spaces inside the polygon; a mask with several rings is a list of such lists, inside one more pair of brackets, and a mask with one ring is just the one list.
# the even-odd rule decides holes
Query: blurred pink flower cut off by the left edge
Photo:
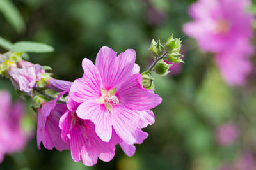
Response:
[{"label": "blurred pink flower cut off by the left edge", "polygon": [[21,151],[26,145],[28,136],[21,128],[24,104],[17,101],[11,104],[10,94],[0,92],[0,162],[5,154]]}]

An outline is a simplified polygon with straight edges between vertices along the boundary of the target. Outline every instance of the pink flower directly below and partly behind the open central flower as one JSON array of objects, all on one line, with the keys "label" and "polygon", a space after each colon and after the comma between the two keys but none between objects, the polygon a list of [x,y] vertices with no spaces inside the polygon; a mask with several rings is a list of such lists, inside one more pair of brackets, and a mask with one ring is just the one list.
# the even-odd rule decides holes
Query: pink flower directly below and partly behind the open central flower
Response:
[{"label": "pink flower directly below and partly behind the open central flower", "polygon": [[93,122],[77,117],[79,103],[68,97],[67,106],[69,110],[60,118],[60,129],[63,141],[70,140],[72,159],[81,160],[86,166],[95,165],[98,157],[105,162],[113,159],[120,138],[113,136],[109,142],[102,141],[95,133]]}]

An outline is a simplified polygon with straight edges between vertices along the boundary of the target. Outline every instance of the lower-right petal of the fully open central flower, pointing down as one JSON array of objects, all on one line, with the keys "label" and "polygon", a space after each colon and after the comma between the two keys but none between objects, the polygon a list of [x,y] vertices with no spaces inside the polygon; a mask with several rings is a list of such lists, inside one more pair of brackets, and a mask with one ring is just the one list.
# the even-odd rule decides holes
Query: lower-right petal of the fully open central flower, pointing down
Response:
[{"label": "lower-right petal of the fully open central flower, pointing down", "polygon": [[128,144],[133,144],[137,138],[136,129],[140,126],[140,115],[133,110],[125,108],[121,104],[111,110],[111,121],[116,134]]}]

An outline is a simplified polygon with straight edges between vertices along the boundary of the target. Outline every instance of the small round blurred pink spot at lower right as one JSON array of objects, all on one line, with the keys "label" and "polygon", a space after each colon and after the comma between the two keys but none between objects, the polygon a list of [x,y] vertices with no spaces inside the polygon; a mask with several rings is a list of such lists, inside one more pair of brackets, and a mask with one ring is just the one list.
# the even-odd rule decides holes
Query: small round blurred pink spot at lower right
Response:
[{"label": "small round blurred pink spot at lower right", "polygon": [[228,146],[232,145],[238,137],[238,130],[236,125],[227,123],[221,125],[216,130],[216,140],[219,145]]}]

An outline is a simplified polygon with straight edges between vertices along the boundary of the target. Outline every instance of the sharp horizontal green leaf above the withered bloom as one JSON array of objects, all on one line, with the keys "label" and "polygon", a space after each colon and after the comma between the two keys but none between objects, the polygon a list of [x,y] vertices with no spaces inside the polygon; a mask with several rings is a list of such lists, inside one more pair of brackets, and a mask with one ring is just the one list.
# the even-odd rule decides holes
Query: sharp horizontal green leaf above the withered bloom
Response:
[{"label": "sharp horizontal green leaf above the withered bloom", "polygon": [[20,41],[13,44],[12,51],[44,53],[44,52],[53,52],[54,48],[52,48],[52,46],[45,45],[44,43]]}]

